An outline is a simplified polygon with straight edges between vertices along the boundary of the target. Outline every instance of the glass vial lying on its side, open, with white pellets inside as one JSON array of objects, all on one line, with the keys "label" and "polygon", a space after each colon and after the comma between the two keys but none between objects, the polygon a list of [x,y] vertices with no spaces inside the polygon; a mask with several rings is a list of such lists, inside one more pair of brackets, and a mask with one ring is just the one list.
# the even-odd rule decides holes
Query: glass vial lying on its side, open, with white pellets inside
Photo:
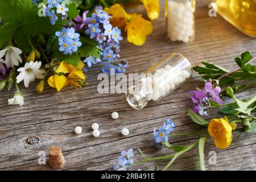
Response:
[{"label": "glass vial lying on its side, open, with white pellets inside", "polygon": [[150,100],[162,100],[191,75],[191,63],[183,55],[172,53],[140,75],[138,84],[127,89],[126,100],[134,109],[142,109]]}]

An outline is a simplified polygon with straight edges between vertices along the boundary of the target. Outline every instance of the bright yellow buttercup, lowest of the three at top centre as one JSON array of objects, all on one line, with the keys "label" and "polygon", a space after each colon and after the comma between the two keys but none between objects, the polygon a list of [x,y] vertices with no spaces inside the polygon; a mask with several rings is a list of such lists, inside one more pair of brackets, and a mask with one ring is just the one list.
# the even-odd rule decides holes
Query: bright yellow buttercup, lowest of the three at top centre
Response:
[{"label": "bright yellow buttercup, lowest of the three at top centre", "polygon": [[136,46],[141,46],[145,43],[147,35],[151,34],[153,26],[141,15],[129,14],[125,30],[127,31],[127,40]]}]

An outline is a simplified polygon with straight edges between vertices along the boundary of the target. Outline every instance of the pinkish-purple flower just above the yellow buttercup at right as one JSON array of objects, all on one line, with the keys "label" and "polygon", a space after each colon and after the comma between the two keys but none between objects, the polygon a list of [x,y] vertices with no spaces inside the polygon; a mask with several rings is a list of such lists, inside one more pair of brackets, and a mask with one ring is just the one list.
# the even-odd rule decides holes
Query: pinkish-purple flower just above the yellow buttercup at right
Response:
[{"label": "pinkish-purple flower just above the yellow buttercup at right", "polygon": [[210,100],[217,102],[218,104],[222,105],[223,101],[221,100],[219,94],[221,92],[220,86],[216,86],[216,88],[212,88],[211,82],[206,82],[204,86],[204,90],[207,92],[207,96]]}]

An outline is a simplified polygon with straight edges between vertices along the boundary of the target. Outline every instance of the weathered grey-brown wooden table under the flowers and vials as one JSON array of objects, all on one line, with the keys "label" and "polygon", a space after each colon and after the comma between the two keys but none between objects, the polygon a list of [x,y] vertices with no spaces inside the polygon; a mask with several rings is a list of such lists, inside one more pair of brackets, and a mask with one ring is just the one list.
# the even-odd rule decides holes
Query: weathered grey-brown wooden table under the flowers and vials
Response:
[{"label": "weathered grey-brown wooden table under the flowers and vials", "polygon": [[[197,1],[196,39],[189,44],[171,44],[167,41],[164,6],[159,19],[154,22],[154,32],[147,42],[136,47],[124,40],[121,55],[129,61],[127,73],[142,73],[157,61],[179,52],[193,64],[209,61],[232,69],[236,64],[234,57],[244,51],[256,55],[256,40],[242,34],[220,16],[208,16],[208,1]],[[144,13],[142,6],[136,8]],[[135,11],[135,9],[134,9]],[[50,146],[59,146],[67,161],[63,169],[103,170],[112,169],[119,152],[129,148],[141,148],[146,156],[170,154],[167,148],[156,150],[151,144],[154,127],[160,127],[167,118],[172,118],[177,126],[174,133],[189,133],[200,129],[187,116],[187,108],[192,107],[188,90],[199,85],[200,76],[194,74],[181,88],[164,100],[154,104],[150,102],[143,110],[134,110],[126,102],[124,94],[99,94],[97,75],[102,65],[96,65],[87,73],[88,86],[74,90],[68,86],[57,93],[46,86],[42,94],[35,93],[34,82],[29,89],[21,86],[26,100],[25,105],[7,106],[7,99],[13,96],[6,90],[0,97],[0,169],[45,170],[47,165],[38,164],[38,152],[46,151]],[[240,97],[254,96],[255,88],[238,94]],[[110,114],[118,111],[119,118],[112,119]],[[214,113],[212,117],[221,117]],[[92,123],[100,125],[101,136],[92,136]],[[82,134],[74,133],[76,126],[82,127]],[[127,137],[121,135],[123,127],[130,130]],[[218,150],[210,139],[205,144],[205,165],[208,170],[249,170],[256,169],[255,148],[256,133],[238,133],[234,131],[229,148]],[[176,145],[192,144],[200,138],[171,138]],[[209,151],[216,151],[217,163],[210,165]],[[135,160],[139,160],[135,155]],[[165,161],[162,164],[166,164]],[[157,162],[143,164],[134,169],[154,169]],[[171,166],[172,170],[200,169],[197,148],[181,155]]]}]

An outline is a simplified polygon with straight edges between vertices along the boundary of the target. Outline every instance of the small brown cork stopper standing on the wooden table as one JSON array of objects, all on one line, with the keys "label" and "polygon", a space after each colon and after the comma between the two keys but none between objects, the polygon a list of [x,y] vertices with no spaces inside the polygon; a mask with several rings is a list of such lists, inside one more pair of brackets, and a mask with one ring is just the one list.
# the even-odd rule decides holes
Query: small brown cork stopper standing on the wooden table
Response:
[{"label": "small brown cork stopper standing on the wooden table", "polygon": [[64,156],[61,152],[61,148],[52,146],[49,148],[49,166],[53,169],[63,168],[65,164]]}]

